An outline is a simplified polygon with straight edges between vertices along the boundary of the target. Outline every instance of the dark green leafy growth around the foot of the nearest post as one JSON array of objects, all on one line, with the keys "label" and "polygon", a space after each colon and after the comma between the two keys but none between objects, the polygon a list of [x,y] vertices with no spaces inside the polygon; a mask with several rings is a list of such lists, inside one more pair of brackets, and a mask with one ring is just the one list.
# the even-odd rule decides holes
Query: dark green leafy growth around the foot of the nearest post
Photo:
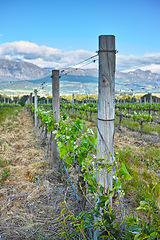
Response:
[{"label": "dark green leafy growth around the foot of the nearest post", "polygon": [[[109,166],[106,164],[105,168],[107,169]],[[120,169],[124,169],[125,173],[127,173],[127,169],[124,164],[121,165]],[[128,173],[124,175],[126,179],[128,179]],[[89,180],[91,176],[87,176]],[[91,178],[92,179],[92,178]],[[113,197],[114,191],[110,191],[109,189],[105,192],[104,188],[97,184],[95,181],[89,181],[92,188],[92,193],[96,194],[96,205],[93,206],[92,212],[83,211],[80,215],[75,216],[72,212],[70,212],[67,203],[64,202],[65,208],[61,211],[60,219],[62,231],[61,234],[66,237],[66,239],[72,239],[72,236],[75,236],[74,231],[71,232],[69,230],[69,222],[72,224],[75,232],[79,235],[83,236],[83,239],[91,239],[87,235],[87,229],[99,229],[100,235],[97,239],[159,239],[160,237],[160,227],[159,227],[159,214],[157,213],[157,207],[155,202],[152,200],[152,196],[149,199],[140,202],[140,206],[137,207],[137,211],[145,212],[143,218],[129,216],[123,220],[117,219],[115,211],[113,211],[110,205],[110,199]],[[97,191],[99,189],[100,191]],[[154,189],[154,187],[153,187]],[[152,189],[152,192],[153,192]],[[90,203],[90,201],[88,200]],[[90,203],[91,204],[91,203]],[[64,216],[66,213],[66,217]],[[80,217],[81,216],[81,217]],[[97,221],[93,223],[93,218],[96,217]],[[66,222],[66,220],[70,220]]]}]

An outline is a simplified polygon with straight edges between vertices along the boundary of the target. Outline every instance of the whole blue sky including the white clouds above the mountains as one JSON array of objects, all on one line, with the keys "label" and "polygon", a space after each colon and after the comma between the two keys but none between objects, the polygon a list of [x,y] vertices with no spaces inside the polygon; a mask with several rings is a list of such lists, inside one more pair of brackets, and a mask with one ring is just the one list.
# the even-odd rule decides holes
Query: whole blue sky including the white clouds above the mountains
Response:
[{"label": "whole blue sky including the white clouds above the mountains", "polygon": [[1,1],[0,58],[70,67],[95,55],[99,35],[115,35],[117,70],[160,73],[159,12],[159,0]]}]

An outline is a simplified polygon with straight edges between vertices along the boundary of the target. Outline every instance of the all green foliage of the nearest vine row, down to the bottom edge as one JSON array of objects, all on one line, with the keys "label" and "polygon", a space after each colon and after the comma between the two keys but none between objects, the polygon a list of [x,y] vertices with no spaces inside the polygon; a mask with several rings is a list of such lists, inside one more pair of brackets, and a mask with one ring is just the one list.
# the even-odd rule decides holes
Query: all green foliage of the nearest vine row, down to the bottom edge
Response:
[{"label": "all green foliage of the nearest vine row, down to the bottom edge", "polygon": [[[85,111],[87,107],[87,105],[83,105],[83,109],[81,108],[79,111]],[[41,108],[38,109],[37,113],[47,126],[51,124],[53,127],[53,122],[48,120],[48,116],[50,114],[52,116],[51,112]],[[145,119],[145,115],[141,114],[142,118]],[[117,158],[114,159],[114,164],[116,165],[117,176],[113,178],[113,189],[106,190],[98,183],[97,176],[99,176],[100,172],[110,174],[112,166],[108,164],[107,160],[104,164],[104,159],[96,159],[94,155],[96,139],[94,138],[93,131],[88,128],[85,132],[83,121],[80,118],[73,122],[65,114],[61,116],[59,123],[55,125],[54,129],[56,129],[54,130],[54,134],[57,139],[60,157],[65,160],[68,167],[74,164],[75,161],[78,161],[82,168],[84,181],[88,185],[87,194],[91,193],[95,196],[96,201],[96,205],[93,206],[87,196],[85,196],[93,210],[90,212],[83,211],[78,216],[75,216],[69,210],[67,203],[64,201],[63,205],[65,207],[59,216],[59,219],[62,220],[60,223],[62,227],[60,235],[66,239],[75,239],[78,235],[82,239],[91,239],[91,236],[87,235],[87,229],[98,229],[100,231],[98,239],[158,239],[159,226],[157,219],[159,213],[157,213],[155,201],[155,196],[158,196],[158,181],[156,178],[151,178],[149,187],[143,184],[143,179],[141,182],[137,181],[135,172],[129,165],[130,163],[137,162],[137,159],[135,160],[132,156],[131,149],[128,148],[124,155],[123,153],[116,154]],[[148,176],[150,176],[148,172],[143,172],[144,179],[148,178]],[[123,182],[130,180],[130,186],[132,187],[137,182],[142,187],[148,188],[146,190],[148,191],[148,198],[139,198],[140,206],[137,208],[137,211],[145,212],[146,218],[135,216],[130,216],[122,220],[117,218],[116,213],[111,208],[111,198],[118,191],[120,194],[119,202],[121,201],[123,196],[123,184],[121,180]],[[139,189],[142,191],[142,188]],[[96,222],[93,222],[94,217],[97,218]],[[70,228],[70,224],[72,228]]]}]

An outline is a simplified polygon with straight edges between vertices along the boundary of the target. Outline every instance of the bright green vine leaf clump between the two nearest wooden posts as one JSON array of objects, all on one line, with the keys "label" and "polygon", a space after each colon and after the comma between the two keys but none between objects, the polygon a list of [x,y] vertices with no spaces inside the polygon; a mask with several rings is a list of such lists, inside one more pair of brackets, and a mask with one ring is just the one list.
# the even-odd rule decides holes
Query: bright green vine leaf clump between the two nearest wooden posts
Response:
[{"label": "bright green vine leaf clump between the two nearest wooden posts", "polygon": [[92,152],[95,147],[96,140],[93,137],[93,132],[88,129],[88,134],[82,133],[83,121],[76,119],[75,122],[70,122],[65,114],[61,117],[56,134],[60,157],[65,159],[67,166],[71,165],[77,157],[79,165],[83,166],[85,159],[89,159],[88,151]]}]

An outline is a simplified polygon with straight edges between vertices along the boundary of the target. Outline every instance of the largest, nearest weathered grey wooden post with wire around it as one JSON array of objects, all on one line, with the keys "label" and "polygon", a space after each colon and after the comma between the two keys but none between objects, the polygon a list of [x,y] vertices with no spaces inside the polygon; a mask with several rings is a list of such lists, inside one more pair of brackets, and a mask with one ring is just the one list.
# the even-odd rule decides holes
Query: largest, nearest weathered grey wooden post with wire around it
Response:
[{"label": "largest, nearest weathered grey wooden post with wire around it", "polygon": [[[115,36],[99,36],[99,86],[98,86],[98,121],[97,121],[97,158],[112,165],[114,147],[115,118]],[[102,163],[102,164],[103,164]],[[101,168],[97,176],[104,191],[112,189],[112,171]],[[112,204],[112,203],[111,203]],[[96,221],[96,219],[95,219]],[[94,233],[96,240],[99,235]]]}]

